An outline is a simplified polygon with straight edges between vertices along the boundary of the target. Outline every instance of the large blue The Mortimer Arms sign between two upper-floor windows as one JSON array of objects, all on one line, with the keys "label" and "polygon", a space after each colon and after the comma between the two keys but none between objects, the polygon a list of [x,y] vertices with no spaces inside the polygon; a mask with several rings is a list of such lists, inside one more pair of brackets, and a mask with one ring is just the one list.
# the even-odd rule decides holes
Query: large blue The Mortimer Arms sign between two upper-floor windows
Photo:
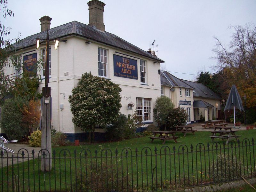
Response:
[{"label": "large blue The Mortimer Arms sign between two upper-floor windows", "polygon": [[114,54],[114,76],[138,79],[137,60]]}]

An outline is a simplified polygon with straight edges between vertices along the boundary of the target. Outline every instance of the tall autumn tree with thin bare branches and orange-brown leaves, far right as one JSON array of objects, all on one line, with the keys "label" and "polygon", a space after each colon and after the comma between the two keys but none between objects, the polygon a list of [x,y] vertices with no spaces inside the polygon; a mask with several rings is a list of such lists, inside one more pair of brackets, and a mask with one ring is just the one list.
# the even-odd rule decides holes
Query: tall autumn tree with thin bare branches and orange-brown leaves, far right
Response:
[{"label": "tall autumn tree with thin bare branches and orange-brown leaves, far right", "polygon": [[246,106],[256,106],[256,26],[231,26],[232,40],[226,47],[219,39],[216,40],[214,59],[218,68],[224,71],[230,90],[236,84],[240,96],[247,96]]}]

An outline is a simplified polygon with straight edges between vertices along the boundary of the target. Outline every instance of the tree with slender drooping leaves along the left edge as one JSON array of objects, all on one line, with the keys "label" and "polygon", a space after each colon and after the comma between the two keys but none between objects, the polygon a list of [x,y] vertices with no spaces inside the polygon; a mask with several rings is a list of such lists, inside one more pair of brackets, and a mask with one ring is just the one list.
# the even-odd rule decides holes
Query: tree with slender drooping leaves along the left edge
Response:
[{"label": "tree with slender drooping leaves along the left edge", "polygon": [[[7,7],[7,0],[0,0],[0,11],[3,12],[4,20],[13,17],[14,13]],[[23,65],[21,63],[20,54],[15,50],[15,44],[20,43],[20,34],[17,38],[8,39],[10,27],[5,27],[0,21],[0,103],[3,103],[5,96],[12,95],[15,85],[20,84],[25,90],[27,89],[26,81],[23,81]],[[34,69],[37,71],[41,68],[41,60],[35,63]],[[17,68],[20,70],[21,80],[15,82],[15,74],[5,74],[6,68]],[[36,74],[36,71],[34,74]],[[25,95],[27,96],[27,95]]]}]

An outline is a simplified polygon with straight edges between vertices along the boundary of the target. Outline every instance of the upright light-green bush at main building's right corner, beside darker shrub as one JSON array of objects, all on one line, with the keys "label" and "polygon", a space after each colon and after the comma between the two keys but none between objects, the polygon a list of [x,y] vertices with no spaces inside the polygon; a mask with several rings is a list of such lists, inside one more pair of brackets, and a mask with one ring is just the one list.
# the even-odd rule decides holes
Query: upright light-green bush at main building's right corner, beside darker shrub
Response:
[{"label": "upright light-green bush at main building's right corner, beside darker shrub", "polygon": [[173,108],[174,105],[170,98],[161,96],[156,99],[156,105],[153,109],[154,118],[159,126],[164,126],[164,130],[166,130],[168,114]]}]

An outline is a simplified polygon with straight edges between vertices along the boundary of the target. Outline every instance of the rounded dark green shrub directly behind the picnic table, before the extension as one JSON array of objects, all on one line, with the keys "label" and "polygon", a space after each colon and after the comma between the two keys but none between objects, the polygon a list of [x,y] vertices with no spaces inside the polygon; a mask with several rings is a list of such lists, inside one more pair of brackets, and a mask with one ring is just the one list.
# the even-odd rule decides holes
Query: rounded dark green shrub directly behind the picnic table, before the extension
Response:
[{"label": "rounded dark green shrub directly behind the picnic table, before the extension", "polygon": [[175,130],[177,125],[184,125],[187,122],[187,112],[182,108],[173,108],[168,114],[167,130]]}]

